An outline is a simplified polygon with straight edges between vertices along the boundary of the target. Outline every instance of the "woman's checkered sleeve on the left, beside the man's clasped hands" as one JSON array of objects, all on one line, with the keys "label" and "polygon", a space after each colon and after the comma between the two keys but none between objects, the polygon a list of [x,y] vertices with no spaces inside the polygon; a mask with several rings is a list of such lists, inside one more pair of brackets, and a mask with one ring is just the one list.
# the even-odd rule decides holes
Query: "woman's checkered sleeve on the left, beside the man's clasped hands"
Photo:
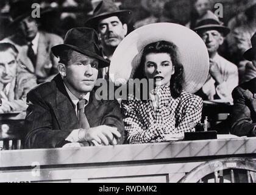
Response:
[{"label": "woman's checkered sleeve on the left, beside the man's clasped hands", "polygon": [[155,142],[154,140],[160,137],[160,133],[163,133],[163,130],[158,124],[152,124],[145,128],[141,117],[137,113],[138,107],[140,107],[140,102],[134,99],[121,102],[124,127],[128,134],[129,143]]}]

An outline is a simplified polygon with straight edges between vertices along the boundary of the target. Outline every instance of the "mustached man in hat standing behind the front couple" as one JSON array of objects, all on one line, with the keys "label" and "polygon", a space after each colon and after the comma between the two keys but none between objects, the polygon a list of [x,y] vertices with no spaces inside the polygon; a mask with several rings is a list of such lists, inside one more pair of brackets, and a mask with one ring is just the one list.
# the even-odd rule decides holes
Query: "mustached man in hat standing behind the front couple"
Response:
[{"label": "mustached man in hat standing behind the front couple", "polygon": [[[112,0],[103,0],[94,9],[93,15],[85,22],[85,27],[98,31],[104,58],[111,60],[116,47],[127,34],[132,12],[119,10]],[[99,78],[108,79],[108,69],[99,70]]]}]

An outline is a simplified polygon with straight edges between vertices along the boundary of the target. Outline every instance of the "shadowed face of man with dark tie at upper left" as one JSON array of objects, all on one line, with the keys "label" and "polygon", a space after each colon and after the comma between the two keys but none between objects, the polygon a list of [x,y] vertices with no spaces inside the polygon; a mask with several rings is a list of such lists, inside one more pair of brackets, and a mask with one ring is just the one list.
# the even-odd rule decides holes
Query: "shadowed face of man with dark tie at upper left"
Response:
[{"label": "shadowed face of man with dark tie at upper left", "polygon": [[37,21],[32,17],[27,17],[23,19],[20,23],[21,30],[25,35],[26,39],[31,41],[35,38],[38,32]]}]

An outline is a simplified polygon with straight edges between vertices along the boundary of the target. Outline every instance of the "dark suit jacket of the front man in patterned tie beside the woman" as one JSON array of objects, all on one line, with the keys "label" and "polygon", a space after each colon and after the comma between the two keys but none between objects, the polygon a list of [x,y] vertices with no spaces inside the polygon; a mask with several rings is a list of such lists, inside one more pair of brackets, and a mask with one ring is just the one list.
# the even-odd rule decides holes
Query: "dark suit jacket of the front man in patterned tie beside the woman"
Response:
[{"label": "dark suit jacket of the front man in patterned tie beside the woman", "polygon": [[[90,127],[107,125],[117,127],[123,143],[124,123],[120,106],[116,100],[97,100],[95,91],[91,91],[88,105],[85,107]],[[45,82],[27,94],[27,115],[25,127],[26,148],[62,147],[74,129],[80,129],[74,104],[66,92],[60,74],[51,82]]]}]

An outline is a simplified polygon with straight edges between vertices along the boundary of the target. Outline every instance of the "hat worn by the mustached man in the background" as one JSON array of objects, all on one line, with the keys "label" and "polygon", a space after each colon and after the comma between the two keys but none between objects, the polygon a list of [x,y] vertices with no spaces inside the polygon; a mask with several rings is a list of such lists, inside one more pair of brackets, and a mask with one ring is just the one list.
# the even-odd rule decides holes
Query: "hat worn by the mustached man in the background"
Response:
[{"label": "hat worn by the mustached man in the background", "polygon": [[132,19],[132,11],[120,10],[112,0],[102,0],[93,11],[93,17],[85,22],[85,27],[91,27],[98,30],[100,19],[111,16],[118,16],[124,24],[128,24]]}]

